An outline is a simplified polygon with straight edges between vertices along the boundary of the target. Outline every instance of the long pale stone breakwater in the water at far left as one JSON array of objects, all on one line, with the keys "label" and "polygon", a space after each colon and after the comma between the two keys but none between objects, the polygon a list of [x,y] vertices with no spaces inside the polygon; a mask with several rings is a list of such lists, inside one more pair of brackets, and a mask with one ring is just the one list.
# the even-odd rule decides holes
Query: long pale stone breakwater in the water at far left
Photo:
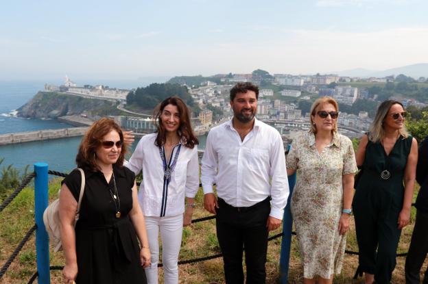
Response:
[{"label": "long pale stone breakwater in the water at far left", "polygon": [[0,135],[0,145],[82,136],[88,127],[47,129]]}]

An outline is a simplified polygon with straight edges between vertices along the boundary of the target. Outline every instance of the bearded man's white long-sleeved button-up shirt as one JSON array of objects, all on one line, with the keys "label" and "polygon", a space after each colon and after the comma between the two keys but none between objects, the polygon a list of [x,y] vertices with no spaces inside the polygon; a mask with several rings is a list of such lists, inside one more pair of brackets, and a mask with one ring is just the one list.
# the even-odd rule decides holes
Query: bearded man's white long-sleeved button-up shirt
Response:
[{"label": "bearded man's white long-sleeved button-up shirt", "polygon": [[274,127],[255,119],[243,141],[232,120],[214,127],[202,157],[204,194],[213,192],[233,207],[250,207],[272,197],[270,216],[283,218],[289,195],[284,145]]}]

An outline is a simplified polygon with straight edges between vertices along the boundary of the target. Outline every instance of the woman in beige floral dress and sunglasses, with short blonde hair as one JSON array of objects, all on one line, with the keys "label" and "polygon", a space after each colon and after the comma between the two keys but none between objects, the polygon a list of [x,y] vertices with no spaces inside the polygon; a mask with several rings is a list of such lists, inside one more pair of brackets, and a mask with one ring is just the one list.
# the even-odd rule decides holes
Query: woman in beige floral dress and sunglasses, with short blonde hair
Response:
[{"label": "woman in beige floral dress and sunglasses, with short blonde hair", "polygon": [[304,283],[333,283],[342,270],[357,172],[353,144],[337,133],[337,102],[324,96],[311,107],[311,129],[292,143],[287,174],[298,170],[292,214]]}]

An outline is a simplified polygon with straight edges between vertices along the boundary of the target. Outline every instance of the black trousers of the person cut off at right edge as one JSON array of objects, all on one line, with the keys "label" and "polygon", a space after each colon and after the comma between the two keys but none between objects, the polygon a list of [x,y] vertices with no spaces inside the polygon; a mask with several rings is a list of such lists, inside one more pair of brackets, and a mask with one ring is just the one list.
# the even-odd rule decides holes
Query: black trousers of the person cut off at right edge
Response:
[{"label": "black trousers of the person cut off at right edge", "polygon": [[[410,242],[409,254],[405,263],[405,278],[407,284],[420,283],[420,268],[422,268],[428,253],[428,214],[416,212],[416,222]],[[428,268],[423,280],[428,284]]]}]

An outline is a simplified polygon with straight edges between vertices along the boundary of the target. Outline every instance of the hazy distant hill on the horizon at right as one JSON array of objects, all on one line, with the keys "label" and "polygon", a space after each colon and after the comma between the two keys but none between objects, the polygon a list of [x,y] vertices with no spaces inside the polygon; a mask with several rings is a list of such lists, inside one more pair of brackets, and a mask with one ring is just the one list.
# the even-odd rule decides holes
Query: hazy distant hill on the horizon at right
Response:
[{"label": "hazy distant hill on the horizon at right", "polygon": [[389,75],[397,76],[404,74],[406,76],[413,77],[414,79],[418,79],[419,77],[428,77],[428,63],[412,64],[387,70],[368,70],[364,68],[355,68],[333,73],[340,76],[349,77],[385,77]]}]

